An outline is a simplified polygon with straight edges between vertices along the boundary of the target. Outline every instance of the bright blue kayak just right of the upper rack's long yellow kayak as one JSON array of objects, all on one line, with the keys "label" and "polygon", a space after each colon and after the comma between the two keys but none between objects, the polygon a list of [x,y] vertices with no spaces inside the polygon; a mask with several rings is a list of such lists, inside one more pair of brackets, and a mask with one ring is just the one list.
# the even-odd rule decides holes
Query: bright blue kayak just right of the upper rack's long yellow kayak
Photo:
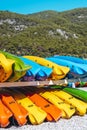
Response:
[{"label": "bright blue kayak just right of the upper rack's long yellow kayak", "polygon": [[64,59],[60,59],[60,58],[55,58],[55,57],[49,57],[46,59],[50,60],[58,65],[69,67],[70,72],[72,74],[83,75],[83,74],[87,73],[87,65],[85,65],[85,64],[78,64],[78,63],[74,63],[72,61],[68,61],[68,60],[64,60]]}]

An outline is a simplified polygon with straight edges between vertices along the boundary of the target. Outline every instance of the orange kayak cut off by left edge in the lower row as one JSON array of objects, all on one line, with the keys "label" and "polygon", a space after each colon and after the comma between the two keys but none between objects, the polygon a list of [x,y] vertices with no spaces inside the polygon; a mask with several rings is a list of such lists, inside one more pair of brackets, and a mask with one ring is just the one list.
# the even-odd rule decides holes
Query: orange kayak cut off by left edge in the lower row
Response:
[{"label": "orange kayak cut off by left edge in the lower row", "polygon": [[10,124],[9,118],[12,112],[0,100],[0,126],[7,127]]}]

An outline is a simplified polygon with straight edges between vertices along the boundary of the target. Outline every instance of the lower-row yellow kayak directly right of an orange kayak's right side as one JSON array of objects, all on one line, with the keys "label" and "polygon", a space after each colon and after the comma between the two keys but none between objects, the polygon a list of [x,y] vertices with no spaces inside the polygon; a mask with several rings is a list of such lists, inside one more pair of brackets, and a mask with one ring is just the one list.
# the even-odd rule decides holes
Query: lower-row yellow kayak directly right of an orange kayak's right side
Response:
[{"label": "lower-row yellow kayak directly right of an orange kayak's right side", "polygon": [[75,108],[49,91],[40,92],[40,95],[62,110],[63,118],[70,118],[75,113]]}]

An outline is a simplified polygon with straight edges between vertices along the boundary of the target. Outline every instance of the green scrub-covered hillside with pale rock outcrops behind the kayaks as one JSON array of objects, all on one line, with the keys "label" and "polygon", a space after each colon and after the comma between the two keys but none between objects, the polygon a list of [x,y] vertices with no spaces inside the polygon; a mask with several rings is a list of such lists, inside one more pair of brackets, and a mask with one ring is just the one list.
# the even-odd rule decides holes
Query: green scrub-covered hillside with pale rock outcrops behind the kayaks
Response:
[{"label": "green scrub-covered hillside with pale rock outcrops behind the kayaks", "polygon": [[28,15],[0,11],[0,48],[16,55],[87,58],[87,8]]}]

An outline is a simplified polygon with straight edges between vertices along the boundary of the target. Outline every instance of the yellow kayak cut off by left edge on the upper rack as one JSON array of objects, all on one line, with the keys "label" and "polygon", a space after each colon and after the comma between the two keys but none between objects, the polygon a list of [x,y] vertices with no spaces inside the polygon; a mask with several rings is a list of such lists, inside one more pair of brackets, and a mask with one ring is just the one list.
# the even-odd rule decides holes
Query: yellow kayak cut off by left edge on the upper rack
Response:
[{"label": "yellow kayak cut off by left edge on the upper rack", "polygon": [[7,59],[0,53],[0,82],[6,81],[12,74],[12,65],[15,61]]}]

